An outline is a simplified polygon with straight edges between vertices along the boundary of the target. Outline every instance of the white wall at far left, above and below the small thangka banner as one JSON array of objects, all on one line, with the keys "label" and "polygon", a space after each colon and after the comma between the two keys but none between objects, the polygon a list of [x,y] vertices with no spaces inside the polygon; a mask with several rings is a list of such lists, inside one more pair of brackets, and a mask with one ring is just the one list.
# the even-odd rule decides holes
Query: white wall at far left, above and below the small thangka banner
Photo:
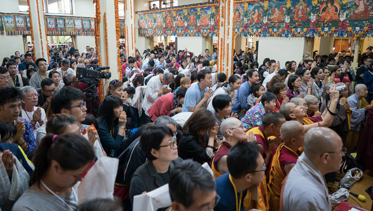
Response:
[{"label": "white wall at far left, above and below the small thangka banner", "polygon": [[[0,12],[19,12],[17,0],[1,0]],[[0,59],[14,55],[15,51],[24,54],[22,35],[0,35]]]}]

